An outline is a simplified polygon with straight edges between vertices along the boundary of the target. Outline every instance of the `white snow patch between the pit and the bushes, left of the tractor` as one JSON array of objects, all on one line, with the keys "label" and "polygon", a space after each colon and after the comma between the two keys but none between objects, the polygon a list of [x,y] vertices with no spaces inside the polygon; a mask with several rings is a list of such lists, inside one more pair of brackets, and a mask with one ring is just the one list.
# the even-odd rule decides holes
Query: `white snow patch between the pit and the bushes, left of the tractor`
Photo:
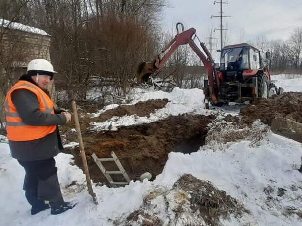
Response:
[{"label": "white snow patch between the pit and the bushes, left of the tractor", "polygon": [[[156,110],[155,113],[151,113],[149,117],[126,115],[123,117],[112,117],[111,119],[105,122],[91,122],[91,125],[93,126],[92,130],[116,130],[117,127],[120,126],[130,126],[134,124],[156,122],[158,120],[165,119],[171,115],[176,116],[185,113],[210,115],[213,113],[213,110],[204,109],[204,97],[205,96],[203,90],[197,88],[181,89],[175,87],[170,93],[163,91],[146,91],[143,89],[135,89],[133,93],[130,94],[129,97],[127,97],[128,99],[133,99],[133,101],[130,104],[125,105],[134,105],[139,101],[164,98],[167,98],[169,102],[164,108]],[[116,106],[114,105],[114,107]],[[94,114],[94,116],[98,115],[98,113]]]}]

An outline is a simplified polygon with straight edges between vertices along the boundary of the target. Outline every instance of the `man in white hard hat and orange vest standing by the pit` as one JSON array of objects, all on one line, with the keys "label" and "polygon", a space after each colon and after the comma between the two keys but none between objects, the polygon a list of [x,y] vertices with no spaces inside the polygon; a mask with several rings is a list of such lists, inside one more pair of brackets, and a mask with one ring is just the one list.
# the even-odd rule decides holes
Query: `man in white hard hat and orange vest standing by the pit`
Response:
[{"label": "man in white hard hat and orange vest standing by the pit", "polygon": [[46,89],[55,73],[47,60],[30,61],[3,104],[9,147],[25,169],[23,189],[32,215],[48,208],[55,215],[75,206],[64,201],[55,166],[54,156],[63,150],[58,125],[71,119],[69,113],[55,109]]}]

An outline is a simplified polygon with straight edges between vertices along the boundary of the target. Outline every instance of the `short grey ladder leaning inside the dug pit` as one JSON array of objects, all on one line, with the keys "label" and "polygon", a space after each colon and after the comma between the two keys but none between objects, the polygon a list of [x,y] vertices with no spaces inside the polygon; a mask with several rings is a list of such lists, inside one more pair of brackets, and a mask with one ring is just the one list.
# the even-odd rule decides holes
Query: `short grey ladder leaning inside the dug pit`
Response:
[{"label": "short grey ladder leaning inside the dug pit", "polygon": [[[95,153],[93,153],[91,156],[94,159],[96,165],[100,168],[110,185],[114,188],[116,188],[116,185],[127,185],[130,182],[129,176],[126,173],[124,167],[122,166],[121,162],[119,161],[118,157],[115,155],[115,153],[112,151],[110,153],[112,158],[98,158]],[[102,164],[102,162],[108,162],[108,161],[114,161],[115,164],[117,165],[119,171],[107,171]],[[113,179],[111,178],[110,174],[122,174],[127,182],[114,182]]]}]

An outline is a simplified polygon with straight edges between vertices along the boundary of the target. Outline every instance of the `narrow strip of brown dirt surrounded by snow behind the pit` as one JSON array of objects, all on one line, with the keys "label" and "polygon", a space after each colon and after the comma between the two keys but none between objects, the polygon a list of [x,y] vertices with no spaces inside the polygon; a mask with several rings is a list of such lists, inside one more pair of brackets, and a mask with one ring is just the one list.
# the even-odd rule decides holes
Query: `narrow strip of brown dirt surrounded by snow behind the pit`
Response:
[{"label": "narrow strip of brown dirt surrounded by snow behind the pit", "polygon": [[138,115],[140,117],[149,117],[150,113],[154,113],[155,110],[164,108],[168,103],[168,99],[155,99],[145,102],[138,102],[134,105],[121,105],[115,109],[107,110],[102,113],[98,118],[94,118],[94,122],[105,122],[113,116],[121,117],[124,115]]}]

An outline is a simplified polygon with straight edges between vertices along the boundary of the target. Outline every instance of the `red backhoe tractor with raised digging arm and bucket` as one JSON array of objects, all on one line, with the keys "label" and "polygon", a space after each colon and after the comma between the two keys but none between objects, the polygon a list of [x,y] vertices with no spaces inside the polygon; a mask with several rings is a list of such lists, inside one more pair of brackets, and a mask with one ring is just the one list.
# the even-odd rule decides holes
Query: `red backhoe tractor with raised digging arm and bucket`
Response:
[{"label": "red backhoe tractor with raised digging arm and bucket", "polygon": [[[178,29],[180,25],[181,33]],[[252,102],[258,97],[269,98],[283,92],[282,88],[277,90],[271,83],[268,67],[263,67],[257,48],[247,43],[226,46],[220,50],[220,66],[215,68],[214,60],[205,44],[200,42],[202,52],[193,41],[197,37],[196,30],[190,28],[184,31],[181,23],[177,23],[176,28],[177,35],[162,50],[164,56],[160,58],[158,55],[152,62],[143,62],[139,65],[136,73],[139,83],[147,82],[149,76],[159,70],[180,45],[189,44],[203,62],[208,74],[208,79],[204,80],[207,109],[209,102],[218,106],[228,102]],[[268,52],[266,57],[269,57]]]}]

